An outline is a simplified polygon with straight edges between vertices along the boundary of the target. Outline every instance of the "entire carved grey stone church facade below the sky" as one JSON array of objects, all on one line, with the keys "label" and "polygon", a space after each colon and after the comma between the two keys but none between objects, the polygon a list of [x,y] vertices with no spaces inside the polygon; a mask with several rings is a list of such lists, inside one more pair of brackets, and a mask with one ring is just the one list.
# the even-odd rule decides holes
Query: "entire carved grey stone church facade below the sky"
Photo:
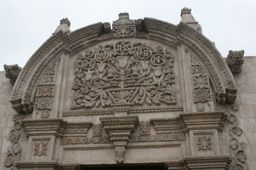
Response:
[{"label": "entire carved grey stone church facade below the sky", "polygon": [[4,66],[0,169],[253,169],[256,57],[221,57],[181,17],[65,18],[21,71]]}]

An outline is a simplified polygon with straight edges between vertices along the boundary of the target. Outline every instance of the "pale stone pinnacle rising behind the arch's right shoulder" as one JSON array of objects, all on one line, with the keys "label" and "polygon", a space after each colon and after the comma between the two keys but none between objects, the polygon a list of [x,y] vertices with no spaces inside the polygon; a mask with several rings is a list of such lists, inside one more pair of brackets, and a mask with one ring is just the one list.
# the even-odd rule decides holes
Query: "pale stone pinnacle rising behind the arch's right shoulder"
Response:
[{"label": "pale stone pinnacle rising behind the arch's right shoulder", "polygon": [[191,9],[184,7],[180,12],[181,22],[188,24],[193,27],[196,31],[202,34],[202,27],[198,22],[196,22],[195,18],[191,14]]}]

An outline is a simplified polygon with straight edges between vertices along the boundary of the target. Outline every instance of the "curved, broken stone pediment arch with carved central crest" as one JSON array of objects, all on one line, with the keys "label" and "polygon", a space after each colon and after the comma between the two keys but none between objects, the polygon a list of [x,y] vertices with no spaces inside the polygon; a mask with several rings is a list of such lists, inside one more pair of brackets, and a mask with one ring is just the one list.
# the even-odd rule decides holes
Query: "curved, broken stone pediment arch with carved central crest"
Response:
[{"label": "curved, broken stone pediment arch with carved central crest", "polygon": [[[196,54],[207,69],[218,103],[234,103],[236,87],[227,64],[223,62],[220,53],[211,41],[189,25],[183,22],[173,25],[154,18],[130,20],[129,16],[123,13],[118,20],[113,22],[112,29],[110,26],[109,23],[99,22],[70,33],[59,31],[47,39],[28,60],[17,78],[11,99],[13,108],[18,113],[33,111],[37,86],[47,74],[47,70],[61,56],[62,58],[63,56],[72,57],[100,43],[108,43],[111,40],[118,43],[118,41],[127,41],[127,39],[133,42],[136,42],[136,39],[138,42],[141,39],[156,41],[170,46],[177,50],[177,53],[179,53],[180,46],[188,48]],[[156,47],[157,45],[152,55],[157,53]],[[166,55],[166,53],[163,52],[161,55]],[[58,69],[58,72],[61,70]]]}]

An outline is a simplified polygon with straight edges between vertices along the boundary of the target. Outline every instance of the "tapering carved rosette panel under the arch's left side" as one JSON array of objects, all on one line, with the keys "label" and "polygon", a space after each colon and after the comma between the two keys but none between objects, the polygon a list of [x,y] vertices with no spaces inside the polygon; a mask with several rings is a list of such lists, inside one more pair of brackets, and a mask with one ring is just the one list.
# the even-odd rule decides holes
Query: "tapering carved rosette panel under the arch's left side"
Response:
[{"label": "tapering carved rosette panel under the arch's left side", "polygon": [[52,64],[45,76],[42,78],[36,90],[35,113],[41,118],[49,118],[52,110],[52,99],[54,97],[55,66]]}]

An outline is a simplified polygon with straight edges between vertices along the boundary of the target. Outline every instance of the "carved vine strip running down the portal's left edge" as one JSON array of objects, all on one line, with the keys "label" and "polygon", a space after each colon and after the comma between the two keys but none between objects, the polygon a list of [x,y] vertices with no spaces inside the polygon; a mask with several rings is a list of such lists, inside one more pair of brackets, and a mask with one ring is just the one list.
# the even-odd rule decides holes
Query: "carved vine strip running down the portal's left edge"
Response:
[{"label": "carved vine strip running down the portal's left edge", "polygon": [[4,166],[10,167],[11,170],[15,170],[15,162],[19,160],[20,157],[20,143],[19,143],[19,131],[21,129],[20,120],[24,118],[24,115],[15,115],[13,117],[14,126],[9,135],[9,140],[12,142],[8,155],[4,160]]}]

